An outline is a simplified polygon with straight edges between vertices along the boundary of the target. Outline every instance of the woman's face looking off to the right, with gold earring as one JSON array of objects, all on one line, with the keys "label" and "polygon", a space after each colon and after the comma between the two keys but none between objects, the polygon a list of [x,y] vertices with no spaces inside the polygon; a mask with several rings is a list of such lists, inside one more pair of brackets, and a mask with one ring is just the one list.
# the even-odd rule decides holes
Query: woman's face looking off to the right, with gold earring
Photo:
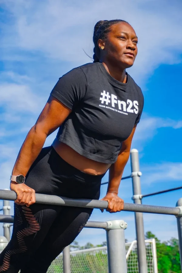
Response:
[{"label": "woman's face looking off to the right, with gold earring", "polygon": [[132,26],[125,22],[113,25],[106,41],[99,43],[104,45],[101,58],[103,57],[103,61],[106,58],[108,62],[124,69],[129,68],[133,66],[138,52],[137,42],[138,38]]}]

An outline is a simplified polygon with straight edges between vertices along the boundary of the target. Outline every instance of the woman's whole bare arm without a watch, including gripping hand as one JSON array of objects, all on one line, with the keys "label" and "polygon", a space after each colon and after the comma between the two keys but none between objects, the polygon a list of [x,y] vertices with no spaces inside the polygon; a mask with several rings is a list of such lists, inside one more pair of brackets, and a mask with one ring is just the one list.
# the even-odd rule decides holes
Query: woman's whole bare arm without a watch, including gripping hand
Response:
[{"label": "woman's whole bare arm without a watch, including gripping hand", "polygon": [[124,206],[124,201],[118,197],[118,189],[123,175],[124,167],[130,157],[131,142],[135,133],[136,126],[134,126],[130,136],[123,141],[120,153],[115,163],[113,163],[109,170],[109,183],[107,188],[107,194],[102,199],[108,201],[109,205],[107,211],[117,212],[121,211]]}]

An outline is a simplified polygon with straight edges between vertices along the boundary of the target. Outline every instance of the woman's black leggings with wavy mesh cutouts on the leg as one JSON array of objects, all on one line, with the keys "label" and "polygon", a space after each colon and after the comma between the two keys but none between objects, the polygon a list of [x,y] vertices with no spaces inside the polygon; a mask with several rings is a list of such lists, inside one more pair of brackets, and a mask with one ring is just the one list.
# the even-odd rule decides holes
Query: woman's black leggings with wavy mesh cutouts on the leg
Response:
[{"label": "woman's black leggings with wavy mesh cutouts on the leg", "polygon": [[[99,199],[103,176],[77,170],[51,146],[42,149],[25,184],[36,193]],[[63,248],[74,241],[92,211],[79,207],[15,204],[12,238],[0,255],[0,272],[46,272]]]}]

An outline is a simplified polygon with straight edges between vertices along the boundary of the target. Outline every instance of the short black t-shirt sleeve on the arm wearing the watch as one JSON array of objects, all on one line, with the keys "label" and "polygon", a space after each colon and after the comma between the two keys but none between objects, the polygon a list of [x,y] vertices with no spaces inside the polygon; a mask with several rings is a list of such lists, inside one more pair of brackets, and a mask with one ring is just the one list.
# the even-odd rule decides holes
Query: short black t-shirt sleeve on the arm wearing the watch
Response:
[{"label": "short black t-shirt sleeve on the arm wearing the watch", "polygon": [[83,70],[75,68],[59,78],[51,95],[73,110],[86,93],[87,81]]}]

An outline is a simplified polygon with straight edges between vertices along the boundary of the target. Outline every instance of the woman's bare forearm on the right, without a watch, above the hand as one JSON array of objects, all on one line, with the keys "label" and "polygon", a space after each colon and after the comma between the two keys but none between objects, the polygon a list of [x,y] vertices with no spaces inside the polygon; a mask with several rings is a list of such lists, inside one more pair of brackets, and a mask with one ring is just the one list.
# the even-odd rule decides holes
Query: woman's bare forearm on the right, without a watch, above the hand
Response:
[{"label": "woman's bare forearm on the right, without a watch, above the hand", "polygon": [[123,175],[124,167],[128,162],[129,156],[130,151],[120,153],[116,162],[111,165],[109,170],[109,184],[107,188],[107,193],[118,194],[121,177]]}]

